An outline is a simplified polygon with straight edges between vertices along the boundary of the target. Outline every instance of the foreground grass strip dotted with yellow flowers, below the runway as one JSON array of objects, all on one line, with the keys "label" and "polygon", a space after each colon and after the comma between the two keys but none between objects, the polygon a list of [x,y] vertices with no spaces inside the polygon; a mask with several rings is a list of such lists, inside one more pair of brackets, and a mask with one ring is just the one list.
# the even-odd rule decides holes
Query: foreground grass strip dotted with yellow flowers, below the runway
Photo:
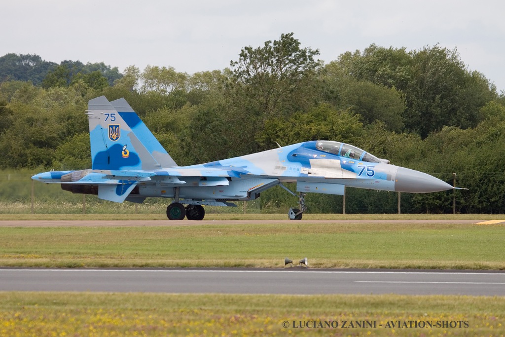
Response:
[{"label": "foreground grass strip dotted with yellow flowers, below the runway", "polygon": [[13,337],[493,336],[504,321],[503,297],[0,293],[0,335]]}]

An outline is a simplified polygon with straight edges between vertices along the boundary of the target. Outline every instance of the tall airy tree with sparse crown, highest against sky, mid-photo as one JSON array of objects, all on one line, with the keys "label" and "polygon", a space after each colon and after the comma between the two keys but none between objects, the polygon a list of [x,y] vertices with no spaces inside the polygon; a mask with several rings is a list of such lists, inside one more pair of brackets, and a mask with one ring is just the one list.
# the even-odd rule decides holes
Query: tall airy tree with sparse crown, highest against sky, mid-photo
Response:
[{"label": "tall airy tree with sparse crown, highest against sky, mid-photo", "polygon": [[307,88],[321,68],[317,55],[317,49],[301,49],[293,33],[281,34],[263,47],[244,47],[239,60],[230,62],[233,87],[241,99],[237,102],[262,120],[307,108]]}]

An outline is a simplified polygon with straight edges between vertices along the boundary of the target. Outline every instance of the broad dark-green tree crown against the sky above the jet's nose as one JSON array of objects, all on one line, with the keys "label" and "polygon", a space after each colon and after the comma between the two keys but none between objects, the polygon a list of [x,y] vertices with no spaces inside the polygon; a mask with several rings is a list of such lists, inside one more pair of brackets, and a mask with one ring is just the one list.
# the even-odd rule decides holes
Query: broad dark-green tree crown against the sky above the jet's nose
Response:
[{"label": "broad dark-green tree crown against the sky above the jet's nose", "polygon": [[458,51],[439,45],[420,51],[372,44],[339,57],[345,76],[395,88],[405,95],[406,129],[426,138],[444,126],[475,127],[479,109],[496,89],[480,73],[470,73]]}]

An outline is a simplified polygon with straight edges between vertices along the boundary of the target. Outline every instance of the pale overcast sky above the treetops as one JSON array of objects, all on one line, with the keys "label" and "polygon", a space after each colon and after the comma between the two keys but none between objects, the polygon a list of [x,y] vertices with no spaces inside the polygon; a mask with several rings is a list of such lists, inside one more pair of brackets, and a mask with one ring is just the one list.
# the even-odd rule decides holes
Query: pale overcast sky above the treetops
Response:
[{"label": "pale overcast sky above the treetops", "polygon": [[17,0],[2,2],[0,56],[222,70],[244,46],[293,32],[325,63],[375,43],[457,48],[470,70],[505,90],[505,1]]}]

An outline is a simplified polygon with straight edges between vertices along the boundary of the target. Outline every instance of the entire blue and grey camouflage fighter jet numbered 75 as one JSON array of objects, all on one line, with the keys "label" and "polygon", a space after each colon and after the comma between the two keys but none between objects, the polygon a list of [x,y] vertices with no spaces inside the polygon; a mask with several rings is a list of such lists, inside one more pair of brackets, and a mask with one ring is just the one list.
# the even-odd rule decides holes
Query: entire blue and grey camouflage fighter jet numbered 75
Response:
[{"label": "entire blue and grey camouflage fighter jet numbered 75", "polygon": [[[147,197],[172,198],[170,220],[202,220],[204,205],[236,206],[270,187],[296,183],[299,208],[307,192],[343,195],[345,186],[399,192],[437,192],[453,187],[429,174],[391,165],[357,147],[329,140],[297,143],[212,163],[177,166],[125,99],[105,96],[88,102],[91,169],[51,171],[32,179],[60,183],[73,193],[98,195],[116,203],[142,203]],[[186,205],[186,206],[184,206]]]}]

